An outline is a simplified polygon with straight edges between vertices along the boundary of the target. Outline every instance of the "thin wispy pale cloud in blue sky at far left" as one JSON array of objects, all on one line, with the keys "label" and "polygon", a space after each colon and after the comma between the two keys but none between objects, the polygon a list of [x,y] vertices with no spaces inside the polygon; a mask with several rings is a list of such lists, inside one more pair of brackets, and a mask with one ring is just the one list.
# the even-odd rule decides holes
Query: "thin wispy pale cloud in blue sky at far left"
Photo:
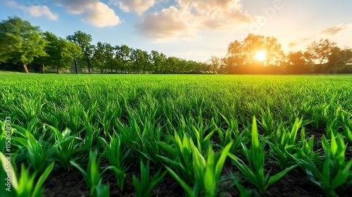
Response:
[{"label": "thin wispy pale cloud in blue sky at far left", "polygon": [[7,1],[8,6],[23,10],[23,13],[32,17],[45,15],[50,20],[58,20],[58,15],[52,13],[47,6],[21,6],[15,1]]}]

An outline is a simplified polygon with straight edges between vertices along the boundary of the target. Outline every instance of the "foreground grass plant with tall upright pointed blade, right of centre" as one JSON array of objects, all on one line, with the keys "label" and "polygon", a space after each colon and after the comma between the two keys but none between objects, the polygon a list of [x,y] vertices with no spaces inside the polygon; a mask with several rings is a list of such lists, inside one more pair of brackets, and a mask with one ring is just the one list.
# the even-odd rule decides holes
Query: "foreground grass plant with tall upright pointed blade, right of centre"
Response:
[{"label": "foreground grass plant with tall upright pointed blade, right of centre", "polygon": [[241,160],[240,158],[237,158],[236,155],[233,155],[232,153],[228,154],[230,158],[232,158],[234,164],[244,174],[244,177],[249,182],[251,182],[251,184],[255,185],[258,188],[259,193],[261,195],[265,193],[265,191],[268,189],[270,185],[277,182],[285,174],[287,174],[289,170],[296,167],[296,165],[293,165],[271,177],[270,177],[270,172],[264,175],[265,144],[266,144],[265,140],[262,140],[261,142],[259,141],[256,117],[253,117],[251,149],[249,150],[249,148],[247,148],[244,144],[242,144],[244,156],[246,157],[246,160],[248,161],[249,166],[247,166],[243,160]]}]

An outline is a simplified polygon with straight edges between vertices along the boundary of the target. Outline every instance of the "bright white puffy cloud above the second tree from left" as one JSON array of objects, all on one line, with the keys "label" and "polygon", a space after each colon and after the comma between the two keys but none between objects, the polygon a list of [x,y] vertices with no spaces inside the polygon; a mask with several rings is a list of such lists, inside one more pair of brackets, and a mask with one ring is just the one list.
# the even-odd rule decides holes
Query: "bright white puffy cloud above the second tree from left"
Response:
[{"label": "bright white puffy cloud above the second tree from left", "polygon": [[112,8],[99,0],[62,0],[59,6],[65,6],[68,13],[77,14],[87,23],[96,27],[115,26],[121,23]]}]

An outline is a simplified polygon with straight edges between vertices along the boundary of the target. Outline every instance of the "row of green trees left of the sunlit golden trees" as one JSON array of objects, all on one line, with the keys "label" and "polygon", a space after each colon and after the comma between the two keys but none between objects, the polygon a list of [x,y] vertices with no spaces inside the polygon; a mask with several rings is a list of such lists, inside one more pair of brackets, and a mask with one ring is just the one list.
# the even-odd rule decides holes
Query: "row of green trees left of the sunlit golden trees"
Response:
[{"label": "row of green trees left of the sunlit golden trees", "polygon": [[[21,18],[8,18],[0,23],[0,63],[27,65],[45,72],[55,68],[74,68],[75,73],[99,69],[101,73],[205,73],[210,65],[182,58],[167,57],[158,51],[132,49],[125,44],[106,42],[92,44],[92,37],[81,31],[65,39],[42,32]],[[40,69],[39,69],[40,68]]]}]

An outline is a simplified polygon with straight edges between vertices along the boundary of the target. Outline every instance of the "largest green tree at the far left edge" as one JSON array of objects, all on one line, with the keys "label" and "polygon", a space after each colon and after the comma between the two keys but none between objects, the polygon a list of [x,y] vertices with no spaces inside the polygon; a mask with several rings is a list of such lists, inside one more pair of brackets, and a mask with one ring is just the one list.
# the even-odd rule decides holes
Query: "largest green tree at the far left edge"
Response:
[{"label": "largest green tree at the far left edge", "polygon": [[0,63],[6,61],[20,63],[28,73],[27,65],[32,63],[34,58],[46,56],[45,46],[46,41],[39,27],[34,27],[18,17],[1,21]]}]

